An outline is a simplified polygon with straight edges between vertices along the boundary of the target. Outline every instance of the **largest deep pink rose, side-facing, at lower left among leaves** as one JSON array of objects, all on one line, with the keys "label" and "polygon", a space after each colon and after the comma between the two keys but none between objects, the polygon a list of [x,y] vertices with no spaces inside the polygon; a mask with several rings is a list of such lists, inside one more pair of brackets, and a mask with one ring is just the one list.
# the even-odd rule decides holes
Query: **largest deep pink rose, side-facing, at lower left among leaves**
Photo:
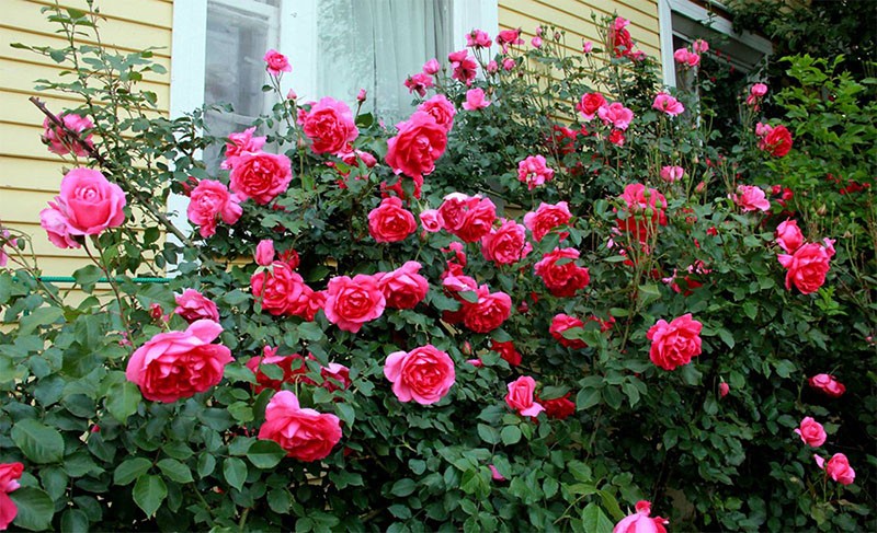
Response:
[{"label": "largest deep pink rose, side-facing, at lower left among leaves", "polygon": [[159,333],[137,348],[125,376],[140,387],[144,397],[172,403],[206,392],[223,380],[231,350],[213,343],[223,326],[202,320],[185,332]]}]

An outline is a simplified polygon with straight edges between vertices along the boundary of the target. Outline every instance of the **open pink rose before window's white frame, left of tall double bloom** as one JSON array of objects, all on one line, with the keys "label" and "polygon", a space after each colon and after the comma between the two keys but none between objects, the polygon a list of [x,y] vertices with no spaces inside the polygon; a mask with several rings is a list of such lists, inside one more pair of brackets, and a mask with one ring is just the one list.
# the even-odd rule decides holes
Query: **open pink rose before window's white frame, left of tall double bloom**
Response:
[{"label": "open pink rose before window's white frame, left of tall double bloom", "polygon": [[348,104],[329,96],[299,114],[298,123],[310,139],[314,153],[339,153],[360,136]]}]

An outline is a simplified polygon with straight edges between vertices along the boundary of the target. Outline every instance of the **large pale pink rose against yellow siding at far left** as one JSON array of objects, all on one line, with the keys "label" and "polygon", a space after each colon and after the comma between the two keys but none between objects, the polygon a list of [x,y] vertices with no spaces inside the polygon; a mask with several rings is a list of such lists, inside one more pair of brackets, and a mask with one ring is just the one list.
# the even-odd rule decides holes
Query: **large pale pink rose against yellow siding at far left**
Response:
[{"label": "large pale pink rose against yellow siding at far left", "polygon": [[61,179],[55,201],[39,212],[41,225],[56,246],[79,247],[69,245],[70,241],[76,242],[75,236],[98,235],[122,225],[125,204],[122,188],[99,171],[73,169]]}]

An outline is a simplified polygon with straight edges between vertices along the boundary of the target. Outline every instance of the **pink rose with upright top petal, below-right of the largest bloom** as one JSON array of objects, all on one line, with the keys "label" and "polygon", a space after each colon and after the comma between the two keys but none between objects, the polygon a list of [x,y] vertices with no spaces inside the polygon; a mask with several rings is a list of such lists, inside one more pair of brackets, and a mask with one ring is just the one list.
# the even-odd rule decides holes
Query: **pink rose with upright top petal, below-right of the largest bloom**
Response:
[{"label": "pink rose with upright top petal, below-right of the largest bloom", "polygon": [[281,391],[265,407],[259,439],[273,440],[299,461],[319,461],[341,440],[341,420],[328,413],[303,409],[295,394]]}]

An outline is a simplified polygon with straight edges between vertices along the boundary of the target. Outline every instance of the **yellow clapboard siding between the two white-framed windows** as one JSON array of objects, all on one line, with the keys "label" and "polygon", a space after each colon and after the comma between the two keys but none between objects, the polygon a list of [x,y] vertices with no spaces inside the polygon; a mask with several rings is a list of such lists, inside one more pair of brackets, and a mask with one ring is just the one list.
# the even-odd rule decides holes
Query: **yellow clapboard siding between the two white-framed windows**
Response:
[{"label": "yellow clapboard siding between the two white-framed windows", "polygon": [[548,24],[566,31],[566,44],[581,51],[582,38],[600,46],[597,21],[616,14],[630,21],[627,30],[639,49],[661,60],[658,0],[499,0],[500,30],[522,28],[524,39],[529,43],[536,26]]}]

